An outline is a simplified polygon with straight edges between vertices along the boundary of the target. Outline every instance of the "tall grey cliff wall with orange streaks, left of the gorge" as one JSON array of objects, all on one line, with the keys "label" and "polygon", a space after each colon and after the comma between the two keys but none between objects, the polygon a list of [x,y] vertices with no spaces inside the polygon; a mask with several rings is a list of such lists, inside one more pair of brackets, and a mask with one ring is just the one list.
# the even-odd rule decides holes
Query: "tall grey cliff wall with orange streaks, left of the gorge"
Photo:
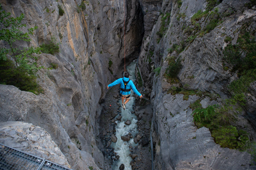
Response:
[{"label": "tall grey cliff wall with orange streaks, left of the gorge", "polygon": [[96,145],[100,103],[106,84],[114,79],[123,62],[124,20],[127,60],[138,50],[144,32],[140,4],[123,3],[1,1],[3,10],[12,16],[25,14],[22,23],[27,28],[38,27],[30,43],[17,45],[38,47],[53,42],[59,45],[60,52],[38,56],[37,64],[43,68],[38,71],[37,81],[43,93],[34,95],[0,85],[0,121],[41,126],[51,134],[74,169],[108,168]]}]

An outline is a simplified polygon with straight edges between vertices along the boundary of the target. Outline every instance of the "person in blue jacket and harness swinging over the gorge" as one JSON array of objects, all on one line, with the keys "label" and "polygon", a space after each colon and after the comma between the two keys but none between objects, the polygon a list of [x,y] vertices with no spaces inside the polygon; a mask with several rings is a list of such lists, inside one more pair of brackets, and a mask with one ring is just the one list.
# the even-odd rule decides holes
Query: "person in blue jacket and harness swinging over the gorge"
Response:
[{"label": "person in blue jacket and harness swinging over the gorge", "polygon": [[[140,96],[140,98],[142,98],[142,95],[136,89],[135,85],[133,84],[132,80],[129,79],[129,77],[130,77],[130,73],[126,71],[124,73],[123,78],[117,79],[116,81],[108,84],[108,86],[107,86],[107,89],[108,89],[109,87],[116,86],[116,84],[120,84],[120,87],[121,87],[120,95],[122,98],[122,107],[124,110],[125,110],[125,105],[130,100],[131,89],[135,92],[135,94],[137,94],[138,96]],[[124,101],[124,99],[125,99],[125,101]]]}]

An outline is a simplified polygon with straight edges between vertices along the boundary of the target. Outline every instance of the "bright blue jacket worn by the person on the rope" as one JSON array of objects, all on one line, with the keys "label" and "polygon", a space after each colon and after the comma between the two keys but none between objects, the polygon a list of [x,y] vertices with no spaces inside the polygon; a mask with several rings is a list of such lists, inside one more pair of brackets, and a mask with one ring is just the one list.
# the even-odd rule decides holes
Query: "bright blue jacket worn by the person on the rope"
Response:
[{"label": "bright blue jacket worn by the person on the rope", "polygon": [[[120,78],[120,79],[117,79],[116,81],[114,81],[113,83],[108,84],[108,87],[115,86],[116,84],[121,84],[121,89],[124,89],[124,82],[123,82],[123,79],[124,79],[124,81],[129,81],[129,78],[125,78],[125,77],[124,77],[124,78]],[[138,90],[136,89],[136,87],[134,86],[132,80],[130,80],[129,83],[127,83],[126,89],[132,89],[132,90],[135,92],[135,94],[137,94],[138,96],[141,96],[141,94],[139,93],[139,91],[138,91]],[[121,93],[122,95],[130,95],[130,94],[131,94],[131,91],[125,92],[125,91],[122,91],[122,90],[121,90],[120,93]]]}]

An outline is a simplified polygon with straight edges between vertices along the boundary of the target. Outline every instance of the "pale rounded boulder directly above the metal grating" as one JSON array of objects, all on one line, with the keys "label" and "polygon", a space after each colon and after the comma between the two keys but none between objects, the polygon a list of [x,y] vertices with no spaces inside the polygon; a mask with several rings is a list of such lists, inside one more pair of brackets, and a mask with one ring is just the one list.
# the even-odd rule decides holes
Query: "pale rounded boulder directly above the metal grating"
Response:
[{"label": "pale rounded boulder directly above the metal grating", "polygon": [[39,126],[25,122],[1,122],[0,143],[18,148],[29,154],[70,168],[66,157],[52,140],[51,135]]}]

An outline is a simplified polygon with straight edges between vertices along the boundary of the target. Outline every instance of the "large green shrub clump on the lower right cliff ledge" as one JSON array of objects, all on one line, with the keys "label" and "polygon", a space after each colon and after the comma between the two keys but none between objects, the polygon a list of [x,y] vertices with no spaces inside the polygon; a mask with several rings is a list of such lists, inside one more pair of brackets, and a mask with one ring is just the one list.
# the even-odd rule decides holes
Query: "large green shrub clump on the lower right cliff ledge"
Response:
[{"label": "large green shrub clump on the lower right cliff ledge", "polygon": [[209,128],[215,142],[221,147],[230,149],[246,150],[248,135],[243,130],[237,130],[234,124],[235,118],[225,109],[217,105],[208,106],[207,108],[197,108],[193,111],[194,122],[197,128],[205,126]]}]

